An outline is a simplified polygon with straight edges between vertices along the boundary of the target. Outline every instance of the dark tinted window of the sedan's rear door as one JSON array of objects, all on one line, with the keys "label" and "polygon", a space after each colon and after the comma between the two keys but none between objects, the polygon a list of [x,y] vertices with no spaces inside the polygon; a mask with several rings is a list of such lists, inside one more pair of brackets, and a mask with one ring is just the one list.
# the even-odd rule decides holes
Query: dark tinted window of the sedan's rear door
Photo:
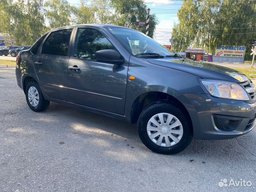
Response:
[{"label": "dark tinted window of the sedan's rear door", "polygon": [[67,56],[72,29],[51,32],[44,42],[42,54]]}]

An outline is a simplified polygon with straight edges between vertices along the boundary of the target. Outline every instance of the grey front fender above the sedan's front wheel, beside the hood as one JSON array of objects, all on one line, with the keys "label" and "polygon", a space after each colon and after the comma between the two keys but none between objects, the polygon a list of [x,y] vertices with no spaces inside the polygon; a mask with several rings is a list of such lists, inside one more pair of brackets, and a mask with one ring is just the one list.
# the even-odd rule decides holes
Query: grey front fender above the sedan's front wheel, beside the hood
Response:
[{"label": "grey front fender above the sedan's front wheel, beside the hood", "polygon": [[[129,76],[135,79],[130,80]],[[131,120],[134,101],[148,92],[163,92],[173,97],[187,93],[205,94],[200,79],[184,71],[151,64],[146,59],[130,57],[124,115]]]}]

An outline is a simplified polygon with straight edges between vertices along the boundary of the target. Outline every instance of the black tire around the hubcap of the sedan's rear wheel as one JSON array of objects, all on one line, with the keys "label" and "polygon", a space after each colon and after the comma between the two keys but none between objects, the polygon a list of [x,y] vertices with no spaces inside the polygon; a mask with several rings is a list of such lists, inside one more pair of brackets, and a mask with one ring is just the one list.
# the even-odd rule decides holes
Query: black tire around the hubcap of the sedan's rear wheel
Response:
[{"label": "black tire around the hubcap of the sedan's rear wheel", "polygon": [[[37,92],[38,92],[38,96],[39,96],[39,101],[38,101],[38,105],[36,107],[32,106],[29,99],[28,99],[28,90],[30,89],[30,87],[35,87],[37,89]],[[32,88],[33,88],[32,87]],[[44,99],[43,97],[43,94],[38,86],[38,84],[34,81],[31,81],[27,84],[26,86],[26,92],[25,92],[25,95],[26,95],[26,101],[27,101],[27,104],[28,106],[31,108],[31,110],[33,111],[36,111],[36,112],[40,112],[40,111],[44,111],[47,109],[47,107],[49,106],[50,104],[50,101],[47,101]]]}]

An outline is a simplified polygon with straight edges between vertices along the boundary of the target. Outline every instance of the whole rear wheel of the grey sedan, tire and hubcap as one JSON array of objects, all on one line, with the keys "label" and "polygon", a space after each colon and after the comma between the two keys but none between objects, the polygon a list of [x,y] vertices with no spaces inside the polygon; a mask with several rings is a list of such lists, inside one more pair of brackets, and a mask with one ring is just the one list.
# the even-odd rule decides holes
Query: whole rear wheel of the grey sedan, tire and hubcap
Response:
[{"label": "whole rear wheel of the grey sedan, tire and hubcap", "polygon": [[26,100],[31,110],[44,111],[49,106],[50,101],[44,99],[43,94],[36,82],[31,81],[26,87]]}]

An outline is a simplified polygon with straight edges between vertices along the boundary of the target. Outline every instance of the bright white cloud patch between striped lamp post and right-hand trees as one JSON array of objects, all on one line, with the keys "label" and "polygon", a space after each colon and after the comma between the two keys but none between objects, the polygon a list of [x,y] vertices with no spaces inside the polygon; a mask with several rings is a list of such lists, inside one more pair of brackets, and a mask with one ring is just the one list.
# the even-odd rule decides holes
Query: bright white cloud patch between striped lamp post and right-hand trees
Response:
[{"label": "bright white cloud patch between striped lamp post and right-hand trees", "polygon": [[161,20],[156,26],[154,39],[161,44],[169,45],[171,38],[171,31],[174,23],[178,23],[178,17],[171,17],[169,20]]}]

